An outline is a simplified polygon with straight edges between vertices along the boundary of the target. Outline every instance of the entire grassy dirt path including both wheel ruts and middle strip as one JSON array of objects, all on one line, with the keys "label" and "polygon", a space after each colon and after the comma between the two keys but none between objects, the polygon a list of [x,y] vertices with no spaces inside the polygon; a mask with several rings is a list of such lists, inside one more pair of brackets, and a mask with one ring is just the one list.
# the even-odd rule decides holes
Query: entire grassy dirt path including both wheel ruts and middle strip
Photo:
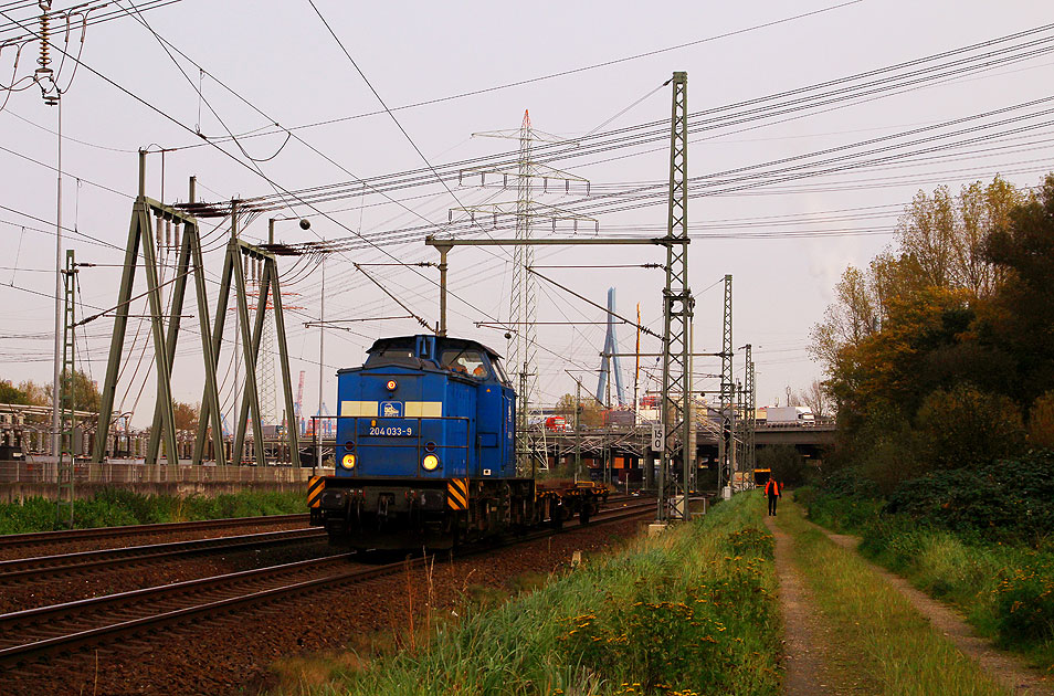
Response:
[{"label": "entire grassy dirt path including both wheel ruts and middle strip", "polygon": [[766,523],[777,538],[788,696],[1054,696],[1035,672],[997,669],[994,661],[1006,656],[983,642],[960,645],[959,633],[970,634],[961,620],[952,630],[947,609],[916,605],[903,580],[862,559],[852,538],[807,521],[787,498]]}]

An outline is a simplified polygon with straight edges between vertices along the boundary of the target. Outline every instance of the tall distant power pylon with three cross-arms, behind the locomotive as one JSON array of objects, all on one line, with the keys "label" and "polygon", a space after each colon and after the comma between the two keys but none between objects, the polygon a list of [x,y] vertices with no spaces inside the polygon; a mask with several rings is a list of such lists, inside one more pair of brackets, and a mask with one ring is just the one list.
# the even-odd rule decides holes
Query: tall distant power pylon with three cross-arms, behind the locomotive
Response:
[{"label": "tall distant power pylon with three cross-arms, behind the locomotive", "polygon": [[[519,156],[517,158],[516,170],[506,171],[502,169],[474,168],[462,171],[459,179],[462,180],[465,173],[474,176],[479,175],[481,183],[486,182],[486,176],[500,175],[504,186],[508,184],[509,176],[516,178],[516,201],[505,203],[491,203],[484,205],[472,205],[455,208],[455,210],[467,212],[475,220],[475,215],[491,215],[494,220],[494,226],[497,228],[502,218],[515,215],[516,240],[524,241],[531,238],[531,230],[536,221],[540,219],[551,220],[554,231],[558,220],[570,220],[578,229],[578,223],[589,221],[597,224],[593,218],[577,215],[572,212],[560,210],[552,205],[541,205],[534,200],[534,181],[542,179],[542,193],[548,192],[549,179],[562,180],[565,190],[570,190],[572,181],[584,182],[586,179],[570,175],[558,169],[535,162],[531,159],[531,150],[535,140],[546,140],[549,143],[566,143],[565,138],[558,138],[530,126],[530,113],[524,110],[524,120],[518,130],[494,130],[488,133],[476,133],[475,136],[489,138],[517,138],[519,140]],[[513,252],[513,284],[509,291],[509,323],[516,327],[510,331],[512,337],[508,342],[508,362],[513,370],[519,376],[519,393],[516,410],[516,431],[523,436],[517,437],[516,463],[520,472],[526,472],[529,467],[529,437],[527,414],[530,405],[535,402],[535,393],[538,391],[538,370],[536,367],[537,355],[537,334],[535,330],[535,317],[537,313],[537,287],[535,277],[528,273],[528,268],[534,265],[535,251],[529,245],[517,245]]]}]

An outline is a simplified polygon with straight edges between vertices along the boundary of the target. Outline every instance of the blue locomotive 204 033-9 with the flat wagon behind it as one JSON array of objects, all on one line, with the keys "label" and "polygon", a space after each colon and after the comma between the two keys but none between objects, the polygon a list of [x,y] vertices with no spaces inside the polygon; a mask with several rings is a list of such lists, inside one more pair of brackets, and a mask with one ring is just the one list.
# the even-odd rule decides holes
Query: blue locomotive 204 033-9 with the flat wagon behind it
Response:
[{"label": "blue locomotive 204 033-9 with the flat wagon behind it", "polygon": [[584,523],[607,492],[516,472],[516,393],[498,354],[441,336],[382,338],[337,372],[336,471],[310,524],[356,548],[450,548],[544,521]]}]

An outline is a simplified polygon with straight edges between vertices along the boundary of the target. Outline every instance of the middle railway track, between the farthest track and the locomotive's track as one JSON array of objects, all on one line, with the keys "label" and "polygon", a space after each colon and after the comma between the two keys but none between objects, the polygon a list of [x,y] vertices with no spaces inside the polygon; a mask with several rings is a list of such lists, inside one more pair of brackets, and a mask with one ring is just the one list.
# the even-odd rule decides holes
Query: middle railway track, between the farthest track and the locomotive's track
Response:
[{"label": "middle railway track, between the farthest track and the locomotive's track", "polygon": [[76,551],[55,556],[35,556],[0,561],[0,584],[33,582],[44,577],[68,576],[86,571],[126,567],[129,563],[158,561],[214,551],[257,550],[296,541],[324,539],[322,529],[307,527],[285,531],[264,531],[230,537],[213,537],[191,541],[170,541],[146,546],[127,546],[97,551]]}]

